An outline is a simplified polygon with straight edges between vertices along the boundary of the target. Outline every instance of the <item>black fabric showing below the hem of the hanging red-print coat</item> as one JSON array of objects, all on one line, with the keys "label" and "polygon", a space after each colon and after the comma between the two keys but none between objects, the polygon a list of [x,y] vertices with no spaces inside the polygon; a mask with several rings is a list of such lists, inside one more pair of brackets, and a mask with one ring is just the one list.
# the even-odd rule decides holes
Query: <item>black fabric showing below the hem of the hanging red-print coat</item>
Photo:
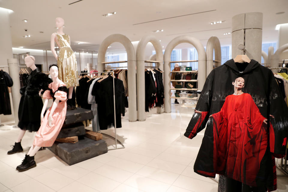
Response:
[{"label": "black fabric showing below the hem of the hanging red-print coat", "polygon": [[251,187],[226,177],[226,192],[266,192],[266,187]]}]

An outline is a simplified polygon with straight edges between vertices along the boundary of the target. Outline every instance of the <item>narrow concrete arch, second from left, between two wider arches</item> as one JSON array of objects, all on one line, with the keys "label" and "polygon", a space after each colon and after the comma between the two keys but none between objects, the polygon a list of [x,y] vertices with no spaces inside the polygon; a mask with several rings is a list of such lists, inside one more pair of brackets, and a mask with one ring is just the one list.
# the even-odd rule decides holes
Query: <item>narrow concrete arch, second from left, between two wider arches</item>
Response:
[{"label": "narrow concrete arch, second from left, between two wider arches", "polygon": [[[141,38],[136,50],[137,65],[137,109],[138,121],[145,121],[145,48],[151,42],[156,51],[156,60],[160,61],[158,67],[163,71],[163,51],[159,40],[153,35],[147,35]],[[157,113],[163,113],[163,108],[157,108]]]}]

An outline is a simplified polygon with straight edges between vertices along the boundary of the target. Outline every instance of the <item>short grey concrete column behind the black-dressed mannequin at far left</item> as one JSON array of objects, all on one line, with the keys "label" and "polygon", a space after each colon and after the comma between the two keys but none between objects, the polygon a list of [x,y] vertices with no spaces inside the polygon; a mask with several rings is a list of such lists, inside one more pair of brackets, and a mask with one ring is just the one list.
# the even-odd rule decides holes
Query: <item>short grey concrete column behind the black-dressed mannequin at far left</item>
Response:
[{"label": "short grey concrete column behind the black-dressed mannequin at far left", "polygon": [[13,110],[14,110],[14,118],[15,125],[18,125],[18,107],[20,103],[21,94],[20,90],[20,81],[19,81],[19,67],[17,59],[7,59],[9,66],[9,75],[13,80],[13,86],[11,87],[12,94],[12,102],[13,102]]}]

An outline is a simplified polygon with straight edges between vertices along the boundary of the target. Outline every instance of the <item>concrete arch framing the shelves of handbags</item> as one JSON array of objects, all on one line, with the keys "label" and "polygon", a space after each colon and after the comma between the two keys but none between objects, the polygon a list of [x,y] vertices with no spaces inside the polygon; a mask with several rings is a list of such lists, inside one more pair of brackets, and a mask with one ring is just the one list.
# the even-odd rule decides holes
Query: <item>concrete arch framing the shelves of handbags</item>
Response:
[{"label": "concrete arch framing the shelves of handbags", "polygon": [[206,53],[204,46],[201,42],[189,35],[181,35],[174,38],[167,45],[164,53],[164,111],[165,113],[171,113],[171,100],[170,100],[170,59],[171,52],[178,44],[190,43],[198,52],[198,90],[202,90],[206,79]]}]

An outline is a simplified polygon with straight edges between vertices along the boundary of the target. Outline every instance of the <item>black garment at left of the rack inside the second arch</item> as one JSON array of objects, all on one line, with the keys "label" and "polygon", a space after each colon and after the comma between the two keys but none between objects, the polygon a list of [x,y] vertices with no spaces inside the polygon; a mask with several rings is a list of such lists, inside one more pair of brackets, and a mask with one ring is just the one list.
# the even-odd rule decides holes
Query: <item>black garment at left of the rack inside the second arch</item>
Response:
[{"label": "black garment at left of the rack inside the second arch", "polygon": [[151,71],[145,71],[145,111],[154,106],[156,101],[156,85]]}]

